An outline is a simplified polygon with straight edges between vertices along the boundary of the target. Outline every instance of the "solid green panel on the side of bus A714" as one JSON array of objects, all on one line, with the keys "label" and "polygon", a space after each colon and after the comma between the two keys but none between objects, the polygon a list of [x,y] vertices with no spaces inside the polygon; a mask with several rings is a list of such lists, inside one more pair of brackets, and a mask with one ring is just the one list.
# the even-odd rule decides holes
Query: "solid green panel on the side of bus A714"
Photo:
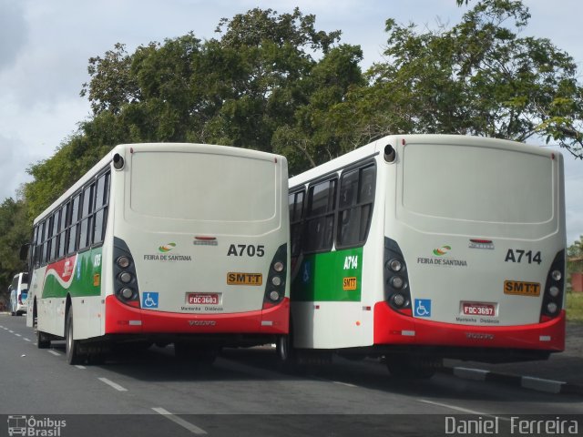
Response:
[{"label": "solid green panel on the side of bus A714", "polygon": [[292,279],[292,300],[361,300],[363,248],[306,255]]}]

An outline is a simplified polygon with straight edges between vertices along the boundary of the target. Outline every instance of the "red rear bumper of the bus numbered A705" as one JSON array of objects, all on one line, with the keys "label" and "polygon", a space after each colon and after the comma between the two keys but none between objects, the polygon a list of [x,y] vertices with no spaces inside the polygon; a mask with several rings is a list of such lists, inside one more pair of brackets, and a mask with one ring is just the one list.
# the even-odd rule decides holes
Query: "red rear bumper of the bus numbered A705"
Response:
[{"label": "red rear bumper of the bus numbered A705", "polygon": [[268,310],[236,314],[179,314],[143,310],[106,299],[106,334],[287,334],[290,300]]}]

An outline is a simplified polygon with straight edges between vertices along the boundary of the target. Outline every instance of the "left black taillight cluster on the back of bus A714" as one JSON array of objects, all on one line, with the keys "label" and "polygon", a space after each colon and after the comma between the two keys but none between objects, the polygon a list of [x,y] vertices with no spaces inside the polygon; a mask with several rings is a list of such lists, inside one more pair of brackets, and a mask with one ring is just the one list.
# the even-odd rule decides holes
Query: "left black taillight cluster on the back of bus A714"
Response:
[{"label": "left black taillight cluster on the back of bus A714", "polygon": [[412,315],[409,276],[403,253],[393,239],[384,239],[384,297],[393,310]]}]

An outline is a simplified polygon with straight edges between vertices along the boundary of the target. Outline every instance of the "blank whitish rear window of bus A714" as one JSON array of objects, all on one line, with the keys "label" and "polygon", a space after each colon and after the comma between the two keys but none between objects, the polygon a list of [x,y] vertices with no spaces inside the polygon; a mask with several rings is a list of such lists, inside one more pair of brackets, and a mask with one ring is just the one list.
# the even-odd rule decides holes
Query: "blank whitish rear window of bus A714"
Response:
[{"label": "blank whitish rear window of bus A714", "polygon": [[403,206],[424,216],[491,223],[553,218],[549,158],[492,147],[404,148]]}]

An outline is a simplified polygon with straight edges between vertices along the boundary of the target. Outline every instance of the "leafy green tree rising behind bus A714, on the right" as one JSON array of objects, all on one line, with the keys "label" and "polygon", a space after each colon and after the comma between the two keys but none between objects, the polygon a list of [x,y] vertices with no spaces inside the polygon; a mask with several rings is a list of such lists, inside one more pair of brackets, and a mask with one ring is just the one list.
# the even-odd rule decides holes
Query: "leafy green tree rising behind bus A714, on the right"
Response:
[{"label": "leafy green tree rising behind bus A714, on the right", "polygon": [[583,88],[567,53],[518,37],[530,14],[513,0],[483,0],[451,29],[417,33],[386,21],[385,61],[353,89],[357,137],[448,133],[516,141],[542,136],[583,158]]}]

